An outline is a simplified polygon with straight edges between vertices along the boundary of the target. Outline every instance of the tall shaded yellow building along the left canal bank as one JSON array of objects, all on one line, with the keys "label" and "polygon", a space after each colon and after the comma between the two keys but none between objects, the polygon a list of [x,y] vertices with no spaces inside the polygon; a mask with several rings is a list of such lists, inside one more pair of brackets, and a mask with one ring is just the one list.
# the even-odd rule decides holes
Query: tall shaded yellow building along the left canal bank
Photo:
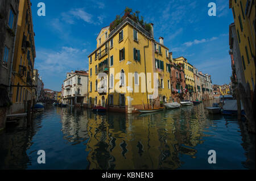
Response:
[{"label": "tall shaded yellow building along the left canal bank", "polygon": [[24,103],[32,99],[32,74],[35,61],[35,41],[30,0],[20,0],[19,18],[13,62],[11,113],[24,111]]}]

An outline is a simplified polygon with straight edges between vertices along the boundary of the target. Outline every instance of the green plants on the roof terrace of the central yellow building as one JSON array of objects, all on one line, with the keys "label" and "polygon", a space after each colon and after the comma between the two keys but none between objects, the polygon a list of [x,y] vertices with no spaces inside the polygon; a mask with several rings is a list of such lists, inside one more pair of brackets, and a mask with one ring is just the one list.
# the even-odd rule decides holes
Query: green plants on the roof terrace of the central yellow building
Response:
[{"label": "green plants on the roof terrace of the central yellow building", "polygon": [[112,23],[110,23],[109,31],[111,32],[112,30],[114,30],[118,26],[118,24],[120,24],[123,20],[129,17],[135,23],[138,23],[139,25],[141,25],[146,31],[150,32],[151,31],[150,23],[144,22],[143,16],[141,16],[141,19],[139,19],[139,13],[140,13],[139,11],[133,12],[132,9],[130,9],[129,7],[126,7],[123,16],[121,17],[120,15],[117,15],[115,17],[115,20]]}]

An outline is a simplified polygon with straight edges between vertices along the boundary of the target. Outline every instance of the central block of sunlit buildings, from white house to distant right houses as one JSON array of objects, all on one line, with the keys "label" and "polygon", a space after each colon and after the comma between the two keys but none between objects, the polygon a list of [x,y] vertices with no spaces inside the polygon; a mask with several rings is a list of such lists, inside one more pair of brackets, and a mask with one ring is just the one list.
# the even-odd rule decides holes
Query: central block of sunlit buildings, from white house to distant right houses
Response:
[{"label": "central block of sunlit buildings, from white house to distant right houses", "polygon": [[210,75],[183,56],[173,58],[164,38],[154,39],[154,24],[143,23],[129,9],[102,28],[96,40],[89,70],[67,73],[61,91],[64,104],[133,113],[183,99],[213,99]]}]

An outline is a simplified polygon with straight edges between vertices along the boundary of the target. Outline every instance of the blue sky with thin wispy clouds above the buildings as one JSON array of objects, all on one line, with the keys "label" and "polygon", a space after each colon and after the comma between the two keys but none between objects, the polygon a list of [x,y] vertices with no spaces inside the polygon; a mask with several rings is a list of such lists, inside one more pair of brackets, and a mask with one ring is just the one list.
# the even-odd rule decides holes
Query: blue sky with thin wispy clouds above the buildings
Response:
[{"label": "blue sky with thin wispy clouds above the buildings", "polygon": [[[164,37],[173,56],[184,56],[199,71],[212,75],[214,84],[230,82],[229,24],[233,22],[227,0],[96,1],[31,0],[35,32],[35,69],[44,87],[61,90],[65,74],[88,70],[88,54],[96,49],[96,37],[130,7],[154,23],[154,36]],[[46,4],[46,16],[38,16],[38,3]],[[208,16],[214,2],[217,16]]]}]

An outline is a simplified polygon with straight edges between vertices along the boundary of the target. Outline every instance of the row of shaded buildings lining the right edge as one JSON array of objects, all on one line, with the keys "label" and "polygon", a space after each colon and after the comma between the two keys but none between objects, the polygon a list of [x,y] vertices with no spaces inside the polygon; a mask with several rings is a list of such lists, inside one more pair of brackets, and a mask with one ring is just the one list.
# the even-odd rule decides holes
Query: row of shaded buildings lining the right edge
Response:
[{"label": "row of shaded buildings lining the right edge", "polygon": [[250,85],[253,100],[255,88],[255,1],[230,0],[234,23],[229,25],[229,54],[231,58],[232,90],[236,92],[238,83],[246,88]]}]

